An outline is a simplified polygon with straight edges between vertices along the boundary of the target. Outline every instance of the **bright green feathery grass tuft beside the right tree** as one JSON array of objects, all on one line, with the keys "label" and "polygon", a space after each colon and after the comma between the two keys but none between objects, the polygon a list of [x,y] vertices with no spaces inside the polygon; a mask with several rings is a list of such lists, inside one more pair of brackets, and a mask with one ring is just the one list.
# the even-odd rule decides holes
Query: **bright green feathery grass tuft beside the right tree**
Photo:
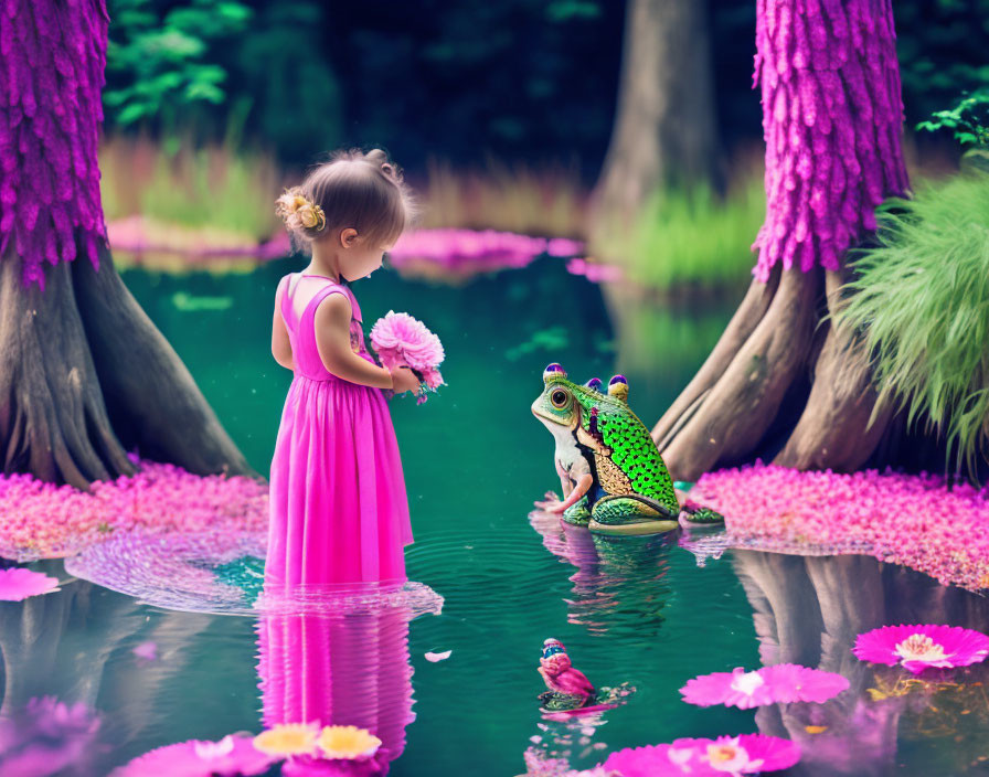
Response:
[{"label": "bright green feathery grass tuft beside the right tree", "polygon": [[836,321],[862,332],[881,403],[926,417],[974,473],[989,440],[989,175],[928,183],[878,216]]}]

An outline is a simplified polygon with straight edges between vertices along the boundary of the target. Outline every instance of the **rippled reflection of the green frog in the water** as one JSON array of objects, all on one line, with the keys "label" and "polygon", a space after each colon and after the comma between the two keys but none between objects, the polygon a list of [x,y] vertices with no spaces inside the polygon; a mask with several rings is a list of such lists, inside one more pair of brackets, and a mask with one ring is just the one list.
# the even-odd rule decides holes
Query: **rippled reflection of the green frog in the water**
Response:
[{"label": "rippled reflection of the green frog in the water", "polygon": [[533,512],[529,520],[546,550],[577,567],[570,577],[570,622],[647,642],[659,631],[670,593],[667,556],[677,532],[605,536],[552,513]]}]

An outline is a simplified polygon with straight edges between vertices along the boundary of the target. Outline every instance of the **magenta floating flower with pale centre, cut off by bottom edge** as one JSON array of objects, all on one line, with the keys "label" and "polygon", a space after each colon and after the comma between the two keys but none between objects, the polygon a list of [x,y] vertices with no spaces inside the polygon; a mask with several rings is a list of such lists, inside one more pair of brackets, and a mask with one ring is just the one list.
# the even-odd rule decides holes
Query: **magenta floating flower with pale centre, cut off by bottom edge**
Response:
[{"label": "magenta floating flower with pale centre, cut off by bottom edge", "polygon": [[677,739],[669,745],[627,747],[612,753],[604,768],[621,777],[670,775],[749,775],[788,769],[800,760],[795,742],[765,734],[720,736],[717,739]]}]

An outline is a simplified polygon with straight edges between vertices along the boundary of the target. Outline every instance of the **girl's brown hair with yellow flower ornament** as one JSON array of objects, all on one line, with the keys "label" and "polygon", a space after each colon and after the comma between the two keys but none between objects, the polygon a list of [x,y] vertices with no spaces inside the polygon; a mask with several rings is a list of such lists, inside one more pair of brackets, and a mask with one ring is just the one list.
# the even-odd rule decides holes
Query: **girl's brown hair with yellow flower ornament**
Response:
[{"label": "girl's brown hair with yellow flower ornament", "polygon": [[275,212],[293,247],[305,253],[313,241],[348,226],[362,240],[392,243],[417,215],[401,169],[377,148],[333,152],[276,200]]}]

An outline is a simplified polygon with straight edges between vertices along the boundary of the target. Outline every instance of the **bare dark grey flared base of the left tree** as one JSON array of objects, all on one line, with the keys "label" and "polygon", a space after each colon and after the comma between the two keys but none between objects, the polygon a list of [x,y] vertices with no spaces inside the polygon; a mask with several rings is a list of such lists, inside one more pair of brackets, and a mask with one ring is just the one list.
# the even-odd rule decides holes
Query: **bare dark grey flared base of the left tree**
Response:
[{"label": "bare dark grey flared base of the left tree", "polygon": [[127,450],[198,475],[256,475],[161,333],[100,249],[25,287],[0,260],[0,446],[3,472],[89,490],[132,475]]}]

